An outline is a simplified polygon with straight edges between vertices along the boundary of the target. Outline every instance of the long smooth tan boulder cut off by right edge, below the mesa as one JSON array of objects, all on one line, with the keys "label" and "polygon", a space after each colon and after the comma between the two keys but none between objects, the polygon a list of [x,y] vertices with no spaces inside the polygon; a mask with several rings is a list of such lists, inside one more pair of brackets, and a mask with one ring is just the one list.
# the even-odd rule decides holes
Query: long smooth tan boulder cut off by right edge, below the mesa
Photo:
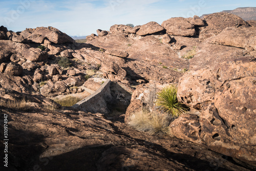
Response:
[{"label": "long smooth tan boulder cut off by right edge, below the mesa", "polygon": [[256,29],[253,27],[229,27],[218,35],[210,37],[207,42],[256,50]]}]

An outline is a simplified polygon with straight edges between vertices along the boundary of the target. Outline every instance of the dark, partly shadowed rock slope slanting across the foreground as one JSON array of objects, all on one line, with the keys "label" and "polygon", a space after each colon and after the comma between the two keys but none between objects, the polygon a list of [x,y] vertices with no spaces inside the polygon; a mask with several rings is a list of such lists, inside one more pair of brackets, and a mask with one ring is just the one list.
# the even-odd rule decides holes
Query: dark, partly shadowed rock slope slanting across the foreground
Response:
[{"label": "dark, partly shadowed rock slope slanting across the foreground", "polygon": [[55,103],[43,96],[1,88],[0,94],[33,101],[27,111],[0,109],[1,119],[7,115],[9,121],[12,170],[249,170],[207,148],[140,133],[99,113],[50,111],[44,104]]}]

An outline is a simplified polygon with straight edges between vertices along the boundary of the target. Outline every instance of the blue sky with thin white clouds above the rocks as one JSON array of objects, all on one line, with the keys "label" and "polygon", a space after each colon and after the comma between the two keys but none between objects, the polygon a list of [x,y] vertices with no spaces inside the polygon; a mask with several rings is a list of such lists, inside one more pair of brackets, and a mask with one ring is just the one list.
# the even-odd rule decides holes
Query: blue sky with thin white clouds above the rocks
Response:
[{"label": "blue sky with thin white clouds above the rocks", "polygon": [[115,24],[161,23],[171,17],[256,7],[255,0],[0,0],[0,26],[8,30],[52,26],[84,36]]}]

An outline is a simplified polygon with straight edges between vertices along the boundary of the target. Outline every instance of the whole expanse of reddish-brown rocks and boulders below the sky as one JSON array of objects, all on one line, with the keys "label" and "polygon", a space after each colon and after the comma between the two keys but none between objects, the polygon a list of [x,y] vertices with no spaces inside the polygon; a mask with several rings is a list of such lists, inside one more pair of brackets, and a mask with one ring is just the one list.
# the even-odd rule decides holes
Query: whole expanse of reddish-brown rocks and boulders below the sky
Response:
[{"label": "whole expanse of reddish-brown rocks and boulders below the sky", "polygon": [[[11,170],[256,169],[255,21],[221,12],[97,34],[77,43],[52,27],[0,27],[0,113],[8,116]],[[111,97],[98,108],[108,113],[55,102],[89,96],[103,78],[111,80]],[[168,135],[129,126],[169,84],[189,111],[172,119]]]}]

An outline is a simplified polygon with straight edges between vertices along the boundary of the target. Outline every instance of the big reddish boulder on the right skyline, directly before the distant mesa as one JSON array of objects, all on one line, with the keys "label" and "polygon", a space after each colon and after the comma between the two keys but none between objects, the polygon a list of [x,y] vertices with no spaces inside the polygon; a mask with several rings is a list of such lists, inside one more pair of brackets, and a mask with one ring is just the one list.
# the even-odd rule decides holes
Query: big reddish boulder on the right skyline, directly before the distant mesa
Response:
[{"label": "big reddish boulder on the right skyline, directly before the distant mesa", "polygon": [[219,34],[227,27],[249,26],[242,18],[237,15],[219,12],[203,17],[205,27],[201,28],[199,40],[203,41],[211,36]]}]

